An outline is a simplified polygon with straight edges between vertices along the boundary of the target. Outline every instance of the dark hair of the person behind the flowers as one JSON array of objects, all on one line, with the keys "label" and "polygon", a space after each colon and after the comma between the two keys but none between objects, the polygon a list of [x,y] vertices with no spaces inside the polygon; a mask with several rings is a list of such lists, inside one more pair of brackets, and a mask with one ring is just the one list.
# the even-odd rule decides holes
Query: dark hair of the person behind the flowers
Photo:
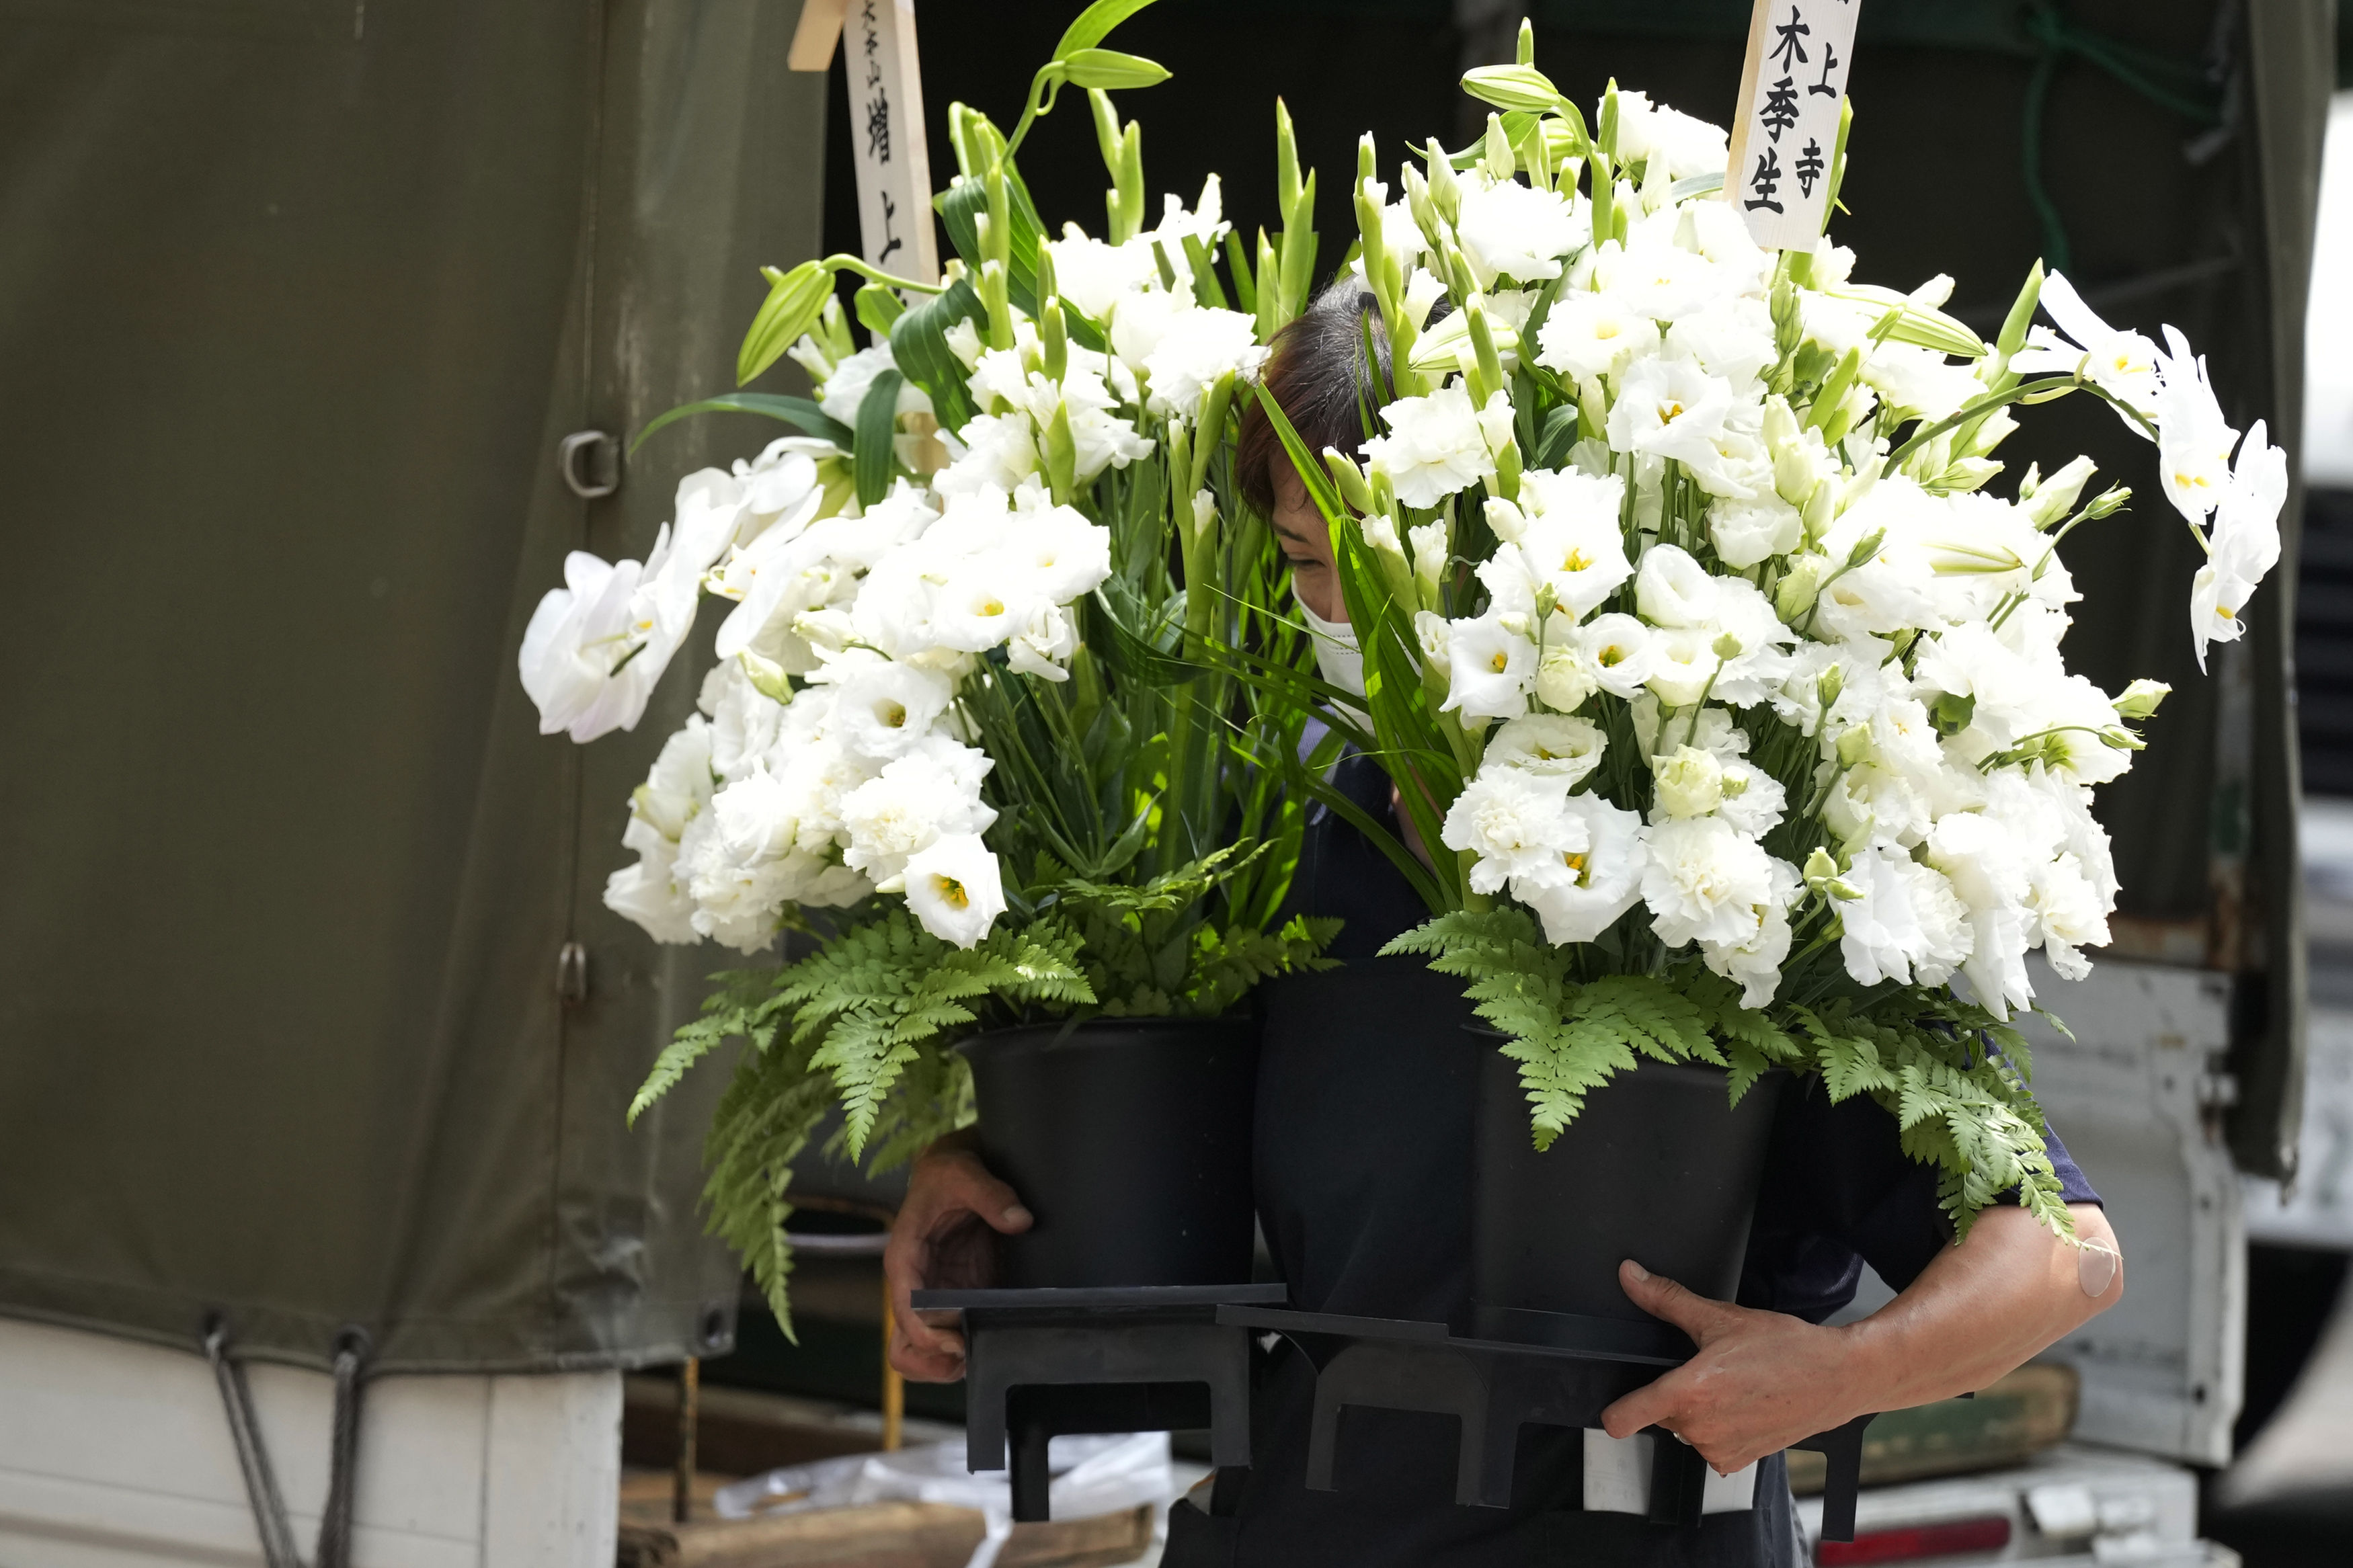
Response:
[{"label": "dark hair of the person behind the flowers", "polygon": [[[1445,299],[1431,310],[1435,322],[1447,310]],[[1381,376],[1374,381],[1365,367],[1365,327],[1372,327],[1372,350],[1379,355]],[[1348,456],[1365,451],[1365,409],[1379,409],[1388,386],[1388,329],[1381,324],[1379,301],[1355,273],[1341,273],[1322,287],[1308,308],[1289,327],[1275,334],[1275,350],[1266,357],[1266,390],[1275,407],[1299,430],[1308,451],[1320,454],[1337,447]],[[1242,433],[1235,437],[1233,480],[1259,512],[1275,512],[1275,463],[1287,463],[1282,437],[1273,421],[1252,397],[1242,407]]]}]

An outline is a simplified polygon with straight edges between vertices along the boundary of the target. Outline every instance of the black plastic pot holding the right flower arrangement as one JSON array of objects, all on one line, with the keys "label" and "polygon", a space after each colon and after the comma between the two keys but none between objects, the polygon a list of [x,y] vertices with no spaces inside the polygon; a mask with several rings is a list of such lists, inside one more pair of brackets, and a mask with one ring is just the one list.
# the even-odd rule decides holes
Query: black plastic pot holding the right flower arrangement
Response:
[{"label": "black plastic pot holding the right flower arrangement", "polygon": [[1727,1107],[1725,1070],[1642,1063],[1588,1093],[1584,1112],[1539,1154],[1520,1065],[1494,1048],[1492,1032],[1478,1034],[1478,1333],[1689,1354],[1689,1340],[1626,1298],[1619,1262],[1633,1258],[1732,1300],[1788,1074],[1767,1072]]}]

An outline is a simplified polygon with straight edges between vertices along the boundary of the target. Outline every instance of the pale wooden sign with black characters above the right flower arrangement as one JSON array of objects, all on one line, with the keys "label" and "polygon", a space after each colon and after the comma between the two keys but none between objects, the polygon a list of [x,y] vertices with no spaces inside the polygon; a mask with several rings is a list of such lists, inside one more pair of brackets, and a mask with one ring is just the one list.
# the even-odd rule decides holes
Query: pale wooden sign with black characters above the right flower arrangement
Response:
[{"label": "pale wooden sign with black characters above the right flower arrangement", "polygon": [[1861,9],[1864,0],[1755,0],[1725,200],[1765,249],[1812,249],[1821,237]]}]

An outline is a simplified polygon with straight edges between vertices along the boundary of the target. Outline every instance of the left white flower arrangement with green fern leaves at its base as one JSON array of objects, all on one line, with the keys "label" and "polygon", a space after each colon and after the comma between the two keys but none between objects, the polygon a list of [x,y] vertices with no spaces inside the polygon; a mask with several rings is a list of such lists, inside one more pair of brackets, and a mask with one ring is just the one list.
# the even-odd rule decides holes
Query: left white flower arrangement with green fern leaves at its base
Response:
[{"label": "left white flower arrangement with green fern leaves at its base", "polygon": [[[1299,766],[1308,715],[1259,703],[1228,658],[1313,663],[1273,538],[1231,494],[1238,388],[1306,296],[1313,188],[1285,249],[1235,277],[1240,310],[1214,275],[1214,176],[1146,228],[1139,141],[1104,89],[1165,73],[1096,47],[1132,9],[1073,24],[1012,136],[958,106],[944,282],[854,256],[769,273],[739,381],[791,355],[816,397],[734,393],[640,440],[704,411],[802,435],[680,480],[642,564],[572,555],[522,644],[544,733],[586,743],[633,729],[699,602],[727,604],[605,903],[661,943],[812,938],[781,971],[718,976],[631,1112],[720,1041],[755,1044],[708,1199],[779,1316],[781,1194],[828,1100],[849,1154],[892,1164],[969,1119],[946,1046],[972,1027],[1217,1018],[1337,929],[1280,914],[1306,799],[1268,780]],[[1068,85],[1106,129],[1104,240],[1049,240],[1014,169]],[[1282,158],[1297,183],[1287,132]],[[864,348],[840,273],[868,280]]]}]

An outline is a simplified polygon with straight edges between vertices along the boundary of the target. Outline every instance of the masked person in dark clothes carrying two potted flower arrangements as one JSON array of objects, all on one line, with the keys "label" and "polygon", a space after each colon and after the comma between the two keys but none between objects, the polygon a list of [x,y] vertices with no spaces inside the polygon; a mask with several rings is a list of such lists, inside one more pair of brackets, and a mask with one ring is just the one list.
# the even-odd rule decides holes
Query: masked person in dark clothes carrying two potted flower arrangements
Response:
[{"label": "masked person in dark clothes carrying two potted flower arrangements", "polygon": [[[1362,449],[1360,397],[1379,400],[1367,339],[1386,360],[1374,296],[1353,273],[1278,336],[1266,388],[1308,451]],[[1292,595],[1327,639],[1327,677],[1346,682],[1353,637],[1329,531],[1257,407],[1242,423],[1235,480],[1273,520]],[[1379,764],[1348,757],[1334,783],[1405,837]],[[1419,959],[1377,957],[1428,912],[1395,865],[1332,811],[1311,823],[1292,910],[1346,919],[1332,947],[1346,969],[1261,992],[1254,1164],[1275,1269],[1304,1312],[1468,1324],[1478,1060],[1461,1027],[1461,980]],[[1788,1443],[1857,1415],[1981,1389],[2122,1298],[2122,1258],[2099,1194],[2057,1135],[2047,1150],[2075,1241],[2017,1204],[1995,1204],[1955,1246],[1937,1173],[1904,1154],[1894,1117],[1868,1095],[1831,1105],[1821,1081],[1805,1077],[1774,1112],[1737,1300],[1706,1300],[1628,1258],[1619,1267],[1626,1295],[1689,1335],[1699,1354],[1609,1406],[1598,1434],[1525,1427],[1508,1509],[1459,1507],[1454,1418],[1409,1410],[1346,1410],[1339,1490],[1308,1490],[1315,1371],[1282,1342],[1252,1396],[1252,1469],[1235,1507],[1212,1519],[1200,1502],[1179,1502],[1165,1566],[1800,1568]],[[979,1284],[988,1229],[1028,1225],[969,1135],[915,1159],[885,1253],[896,1300],[892,1366],[934,1382],[962,1375],[962,1342],[918,1321],[908,1291]],[[1894,1300],[1826,1326],[1854,1300],[1866,1262]],[[1734,1495],[1746,1507],[1711,1512],[1697,1528],[1649,1523],[1640,1497],[1602,1476],[1626,1474],[1612,1462],[1626,1455],[1617,1446],[1654,1441],[1647,1429],[1694,1446],[1722,1476],[1751,1474],[1753,1490]]]}]

